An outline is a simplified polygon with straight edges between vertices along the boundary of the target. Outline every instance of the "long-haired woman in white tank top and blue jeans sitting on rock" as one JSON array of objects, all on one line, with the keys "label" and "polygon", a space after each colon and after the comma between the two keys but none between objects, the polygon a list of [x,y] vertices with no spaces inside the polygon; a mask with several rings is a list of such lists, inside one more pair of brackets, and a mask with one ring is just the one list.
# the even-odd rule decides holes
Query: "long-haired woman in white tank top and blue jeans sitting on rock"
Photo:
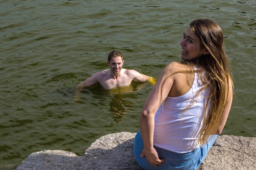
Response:
[{"label": "long-haired woman in white tank top and blue jeans sitting on rock", "polygon": [[145,170],[195,170],[221,133],[233,97],[220,26],[193,20],[180,42],[181,63],[161,72],[145,100],[134,143]]}]

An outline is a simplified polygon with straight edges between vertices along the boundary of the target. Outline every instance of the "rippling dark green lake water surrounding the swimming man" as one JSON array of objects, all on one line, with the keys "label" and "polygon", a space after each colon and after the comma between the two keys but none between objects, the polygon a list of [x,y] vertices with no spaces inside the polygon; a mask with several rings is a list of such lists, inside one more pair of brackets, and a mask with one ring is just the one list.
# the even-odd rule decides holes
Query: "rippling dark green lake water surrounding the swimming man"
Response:
[{"label": "rippling dark green lake water surrounding the swimming man", "polygon": [[233,105],[222,134],[255,137],[255,0],[1,0],[0,160],[41,150],[82,156],[103,135],[137,132],[150,84],[132,83],[127,92],[95,86],[79,103],[76,85],[108,69],[113,50],[123,68],[157,79],[180,61],[180,40],[196,18],[221,26],[232,63]]}]

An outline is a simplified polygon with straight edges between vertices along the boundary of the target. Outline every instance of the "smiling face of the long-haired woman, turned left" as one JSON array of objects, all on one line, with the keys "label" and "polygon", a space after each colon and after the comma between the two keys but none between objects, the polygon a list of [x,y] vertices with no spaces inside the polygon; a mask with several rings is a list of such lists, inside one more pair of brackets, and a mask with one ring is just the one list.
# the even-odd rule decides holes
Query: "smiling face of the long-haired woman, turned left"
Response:
[{"label": "smiling face of the long-haired woman, turned left", "polygon": [[201,47],[199,38],[190,31],[189,27],[184,32],[180,45],[182,48],[180,58],[184,60],[195,59],[209,53],[206,48]]}]

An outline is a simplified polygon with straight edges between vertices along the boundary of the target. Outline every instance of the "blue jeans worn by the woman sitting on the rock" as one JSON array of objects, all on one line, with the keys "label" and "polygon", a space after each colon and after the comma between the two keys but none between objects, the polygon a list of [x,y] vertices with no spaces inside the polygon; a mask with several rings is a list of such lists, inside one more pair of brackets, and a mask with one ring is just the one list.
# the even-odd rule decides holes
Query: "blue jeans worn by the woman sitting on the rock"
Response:
[{"label": "blue jeans worn by the woman sitting on the rock", "polygon": [[217,136],[218,135],[214,135],[210,142],[205,144],[203,147],[199,146],[197,149],[189,153],[175,153],[154,146],[154,148],[157,150],[159,159],[165,159],[163,165],[154,167],[147,161],[145,156],[140,157],[140,154],[144,149],[144,145],[139,130],[134,142],[135,159],[137,160],[140,167],[145,170],[196,170],[202,161],[204,161],[210,147],[212,147],[212,144],[214,144]]}]

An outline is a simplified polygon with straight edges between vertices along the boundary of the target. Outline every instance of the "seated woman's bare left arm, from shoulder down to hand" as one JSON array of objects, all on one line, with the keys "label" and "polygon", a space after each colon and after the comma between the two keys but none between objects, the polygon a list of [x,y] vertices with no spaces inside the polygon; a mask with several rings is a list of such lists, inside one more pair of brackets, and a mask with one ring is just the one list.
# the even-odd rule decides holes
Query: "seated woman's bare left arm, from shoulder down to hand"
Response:
[{"label": "seated woman's bare left arm, from shoulder down to hand", "polygon": [[172,66],[169,64],[160,74],[156,84],[148,94],[140,115],[140,133],[143,139],[144,150],[141,156],[146,156],[150,164],[157,167],[157,164],[163,164],[163,159],[158,158],[157,151],[153,147],[154,138],[154,115],[160,104],[168,96],[172,89],[174,76],[172,75]]}]

